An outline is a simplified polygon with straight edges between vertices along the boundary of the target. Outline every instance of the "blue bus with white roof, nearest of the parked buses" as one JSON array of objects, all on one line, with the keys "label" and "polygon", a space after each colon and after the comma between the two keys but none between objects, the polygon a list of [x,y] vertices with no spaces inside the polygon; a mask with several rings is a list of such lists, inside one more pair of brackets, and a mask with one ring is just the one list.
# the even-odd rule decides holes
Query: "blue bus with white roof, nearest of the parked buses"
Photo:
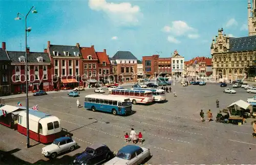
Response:
[{"label": "blue bus with white roof, nearest of the parked buses", "polygon": [[110,112],[114,115],[132,113],[130,99],[100,94],[87,95],[84,99],[84,108],[92,111]]}]

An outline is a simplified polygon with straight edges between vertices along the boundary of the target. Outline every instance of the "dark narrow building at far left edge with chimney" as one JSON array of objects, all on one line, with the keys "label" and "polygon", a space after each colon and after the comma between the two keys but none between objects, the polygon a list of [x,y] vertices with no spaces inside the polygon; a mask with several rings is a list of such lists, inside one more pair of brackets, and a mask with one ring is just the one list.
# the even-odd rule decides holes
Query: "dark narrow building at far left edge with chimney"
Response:
[{"label": "dark narrow building at far left edge with chimney", "polygon": [[0,48],[0,96],[11,94],[11,60],[6,52],[6,43],[2,42]]}]

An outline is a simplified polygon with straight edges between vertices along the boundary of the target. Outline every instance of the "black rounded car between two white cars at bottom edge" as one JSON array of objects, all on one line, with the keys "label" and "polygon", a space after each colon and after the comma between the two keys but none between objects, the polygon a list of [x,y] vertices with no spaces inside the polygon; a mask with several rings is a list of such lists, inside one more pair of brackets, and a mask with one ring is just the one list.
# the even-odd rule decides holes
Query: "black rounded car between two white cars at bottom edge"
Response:
[{"label": "black rounded car between two white cars at bottom edge", "polygon": [[113,157],[113,152],[104,144],[94,144],[87,147],[84,152],[73,160],[73,164],[100,164],[108,161]]}]

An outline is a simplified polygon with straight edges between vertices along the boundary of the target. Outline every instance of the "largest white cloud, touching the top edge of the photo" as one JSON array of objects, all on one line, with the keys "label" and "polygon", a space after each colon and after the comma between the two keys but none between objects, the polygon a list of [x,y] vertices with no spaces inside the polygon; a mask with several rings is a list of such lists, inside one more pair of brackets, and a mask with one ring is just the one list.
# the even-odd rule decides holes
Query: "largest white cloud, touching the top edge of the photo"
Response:
[{"label": "largest white cloud, touching the top edge of the photo", "polygon": [[114,23],[121,26],[137,25],[143,16],[140,7],[131,3],[108,3],[105,0],[89,0],[89,7],[92,10],[103,11]]}]

